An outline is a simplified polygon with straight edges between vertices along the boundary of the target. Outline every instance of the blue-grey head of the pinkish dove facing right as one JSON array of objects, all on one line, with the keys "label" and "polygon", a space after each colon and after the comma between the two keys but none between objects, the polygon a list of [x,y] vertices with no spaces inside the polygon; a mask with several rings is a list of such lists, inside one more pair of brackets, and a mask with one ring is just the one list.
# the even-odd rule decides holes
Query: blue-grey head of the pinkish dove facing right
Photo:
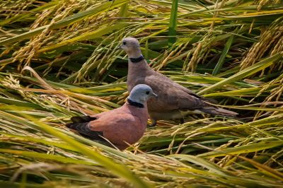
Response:
[{"label": "blue-grey head of the pinkish dove facing right", "polygon": [[129,93],[129,100],[144,104],[152,96],[157,97],[151,87],[146,84],[138,84],[137,86],[134,86],[131,93]]}]

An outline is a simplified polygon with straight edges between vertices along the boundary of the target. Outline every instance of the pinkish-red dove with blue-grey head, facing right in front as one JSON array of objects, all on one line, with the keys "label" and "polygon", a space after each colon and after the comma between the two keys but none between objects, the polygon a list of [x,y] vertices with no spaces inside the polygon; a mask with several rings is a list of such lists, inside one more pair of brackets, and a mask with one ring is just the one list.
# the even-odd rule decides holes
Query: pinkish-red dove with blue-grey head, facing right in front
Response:
[{"label": "pinkish-red dove with blue-grey head, facing right in front", "polygon": [[132,88],[122,107],[91,116],[71,117],[73,123],[67,127],[108,146],[110,141],[123,150],[127,143],[136,143],[144,135],[148,119],[146,102],[151,96],[157,96],[151,87],[139,84]]}]

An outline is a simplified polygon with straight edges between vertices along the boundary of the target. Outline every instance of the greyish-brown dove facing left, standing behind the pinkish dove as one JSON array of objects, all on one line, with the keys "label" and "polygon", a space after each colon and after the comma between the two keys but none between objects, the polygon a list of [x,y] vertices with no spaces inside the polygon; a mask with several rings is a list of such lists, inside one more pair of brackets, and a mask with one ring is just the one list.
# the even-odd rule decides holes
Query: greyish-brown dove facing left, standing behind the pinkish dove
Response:
[{"label": "greyish-brown dove facing left, standing behind the pinkish dove", "polygon": [[123,39],[120,47],[127,52],[129,59],[128,90],[131,91],[134,86],[143,83],[150,86],[158,95],[158,98],[151,98],[147,102],[151,126],[156,125],[159,119],[183,119],[187,114],[209,113],[228,117],[237,115],[236,112],[213,106],[208,99],[196,95],[151,69],[141,54],[138,40],[134,37]]}]

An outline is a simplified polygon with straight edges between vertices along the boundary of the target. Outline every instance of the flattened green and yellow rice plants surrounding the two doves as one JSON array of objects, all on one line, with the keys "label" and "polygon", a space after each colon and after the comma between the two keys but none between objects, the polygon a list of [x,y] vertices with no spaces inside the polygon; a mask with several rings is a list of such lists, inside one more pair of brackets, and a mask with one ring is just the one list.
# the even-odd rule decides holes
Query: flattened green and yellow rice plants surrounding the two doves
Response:
[{"label": "flattened green and yellow rice plants surrounding the two doves", "polygon": [[[127,151],[69,131],[125,101],[125,36],[239,117],[161,121]],[[0,187],[283,187],[281,0],[1,1],[0,69]]]}]

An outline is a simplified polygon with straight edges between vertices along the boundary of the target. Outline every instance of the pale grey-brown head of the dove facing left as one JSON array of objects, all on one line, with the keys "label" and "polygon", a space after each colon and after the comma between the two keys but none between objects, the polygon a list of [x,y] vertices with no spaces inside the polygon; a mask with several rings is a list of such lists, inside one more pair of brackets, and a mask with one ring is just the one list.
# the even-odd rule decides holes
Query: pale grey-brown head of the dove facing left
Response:
[{"label": "pale grey-brown head of the dove facing left", "polygon": [[131,57],[139,57],[141,55],[141,49],[139,47],[139,41],[134,37],[127,37],[122,40],[120,46]]}]

